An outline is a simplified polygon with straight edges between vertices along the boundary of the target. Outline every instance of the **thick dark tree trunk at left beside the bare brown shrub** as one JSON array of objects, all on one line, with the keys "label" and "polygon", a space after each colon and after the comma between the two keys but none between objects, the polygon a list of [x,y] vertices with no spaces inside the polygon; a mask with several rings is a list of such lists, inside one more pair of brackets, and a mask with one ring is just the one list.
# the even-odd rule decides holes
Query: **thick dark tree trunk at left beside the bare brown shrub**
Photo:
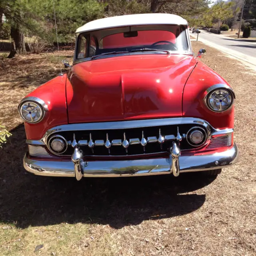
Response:
[{"label": "thick dark tree trunk at left beside the bare brown shrub", "polygon": [[24,34],[21,32],[20,27],[11,26],[11,38],[12,38],[12,48],[8,58],[14,57],[16,53],[24,54],[26,53]]}]

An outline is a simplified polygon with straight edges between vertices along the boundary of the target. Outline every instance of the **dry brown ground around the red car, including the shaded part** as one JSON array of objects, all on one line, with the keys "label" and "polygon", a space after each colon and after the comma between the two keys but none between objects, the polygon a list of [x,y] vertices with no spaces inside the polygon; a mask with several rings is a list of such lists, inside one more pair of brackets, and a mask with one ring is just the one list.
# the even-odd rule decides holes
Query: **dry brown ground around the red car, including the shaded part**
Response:
[{"label": "dry brown ground around the red car, including the shaded part", "polygon": [[[60,72],[59,58],[0,55],[0,124],[13,134],[0,148],[0,255],[256,255],[256,74],[200,42],[192,45],[194,52],[206,48],[202,62],[236,92],[240,162],[215,180],[200,173],[80,182],[26,174],[17,105]],[[72,59],[72,52],[61,55]]]}]

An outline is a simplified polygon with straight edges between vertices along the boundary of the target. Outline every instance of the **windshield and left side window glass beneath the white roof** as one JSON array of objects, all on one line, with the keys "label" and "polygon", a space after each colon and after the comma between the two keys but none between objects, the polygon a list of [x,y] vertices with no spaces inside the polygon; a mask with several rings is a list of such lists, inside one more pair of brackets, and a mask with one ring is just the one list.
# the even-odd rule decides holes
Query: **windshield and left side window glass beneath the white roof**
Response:
[{"label": "windshield and left side window glass beneath the white roof", "polygon": [[127,26],[84,32],[78,35],[76,48],[76,60],[189,50],[183,25]]}]

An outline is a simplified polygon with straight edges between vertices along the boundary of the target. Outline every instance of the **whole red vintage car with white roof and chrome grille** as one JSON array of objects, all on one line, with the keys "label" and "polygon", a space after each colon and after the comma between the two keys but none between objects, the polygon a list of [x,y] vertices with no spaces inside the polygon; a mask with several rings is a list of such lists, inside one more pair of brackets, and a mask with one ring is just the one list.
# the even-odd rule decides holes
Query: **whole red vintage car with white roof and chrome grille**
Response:
[{"label": "whole red vintage car with white roof and chrome grille", "polygon": [[113,177],[234,164],[235,94],[192,51],[172,14],[94,20],[76,30],[74,62],[19,104],[24,168],[43,176]]}]

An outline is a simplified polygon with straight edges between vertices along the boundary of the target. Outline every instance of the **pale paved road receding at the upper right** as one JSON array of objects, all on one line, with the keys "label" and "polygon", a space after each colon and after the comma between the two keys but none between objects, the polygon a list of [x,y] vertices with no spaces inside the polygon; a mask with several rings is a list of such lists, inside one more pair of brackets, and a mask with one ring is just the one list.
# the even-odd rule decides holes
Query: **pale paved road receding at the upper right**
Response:
[{"label": "pale paved road receding at the upper right", "polygon": [[[196,37],[197,34],[192,34],[191,36]],[[213,34],[205,30],[201,30],[198,36],[198,40],[205,44],[213,46],[214,48],[219,48],[228,54],[235,56],[237,54],[241,59],[244,58],[246,61],[256,64],[256,41],[248,42],[243,38],[234,39],[228,36],[223,36],[221,34]]]}]

